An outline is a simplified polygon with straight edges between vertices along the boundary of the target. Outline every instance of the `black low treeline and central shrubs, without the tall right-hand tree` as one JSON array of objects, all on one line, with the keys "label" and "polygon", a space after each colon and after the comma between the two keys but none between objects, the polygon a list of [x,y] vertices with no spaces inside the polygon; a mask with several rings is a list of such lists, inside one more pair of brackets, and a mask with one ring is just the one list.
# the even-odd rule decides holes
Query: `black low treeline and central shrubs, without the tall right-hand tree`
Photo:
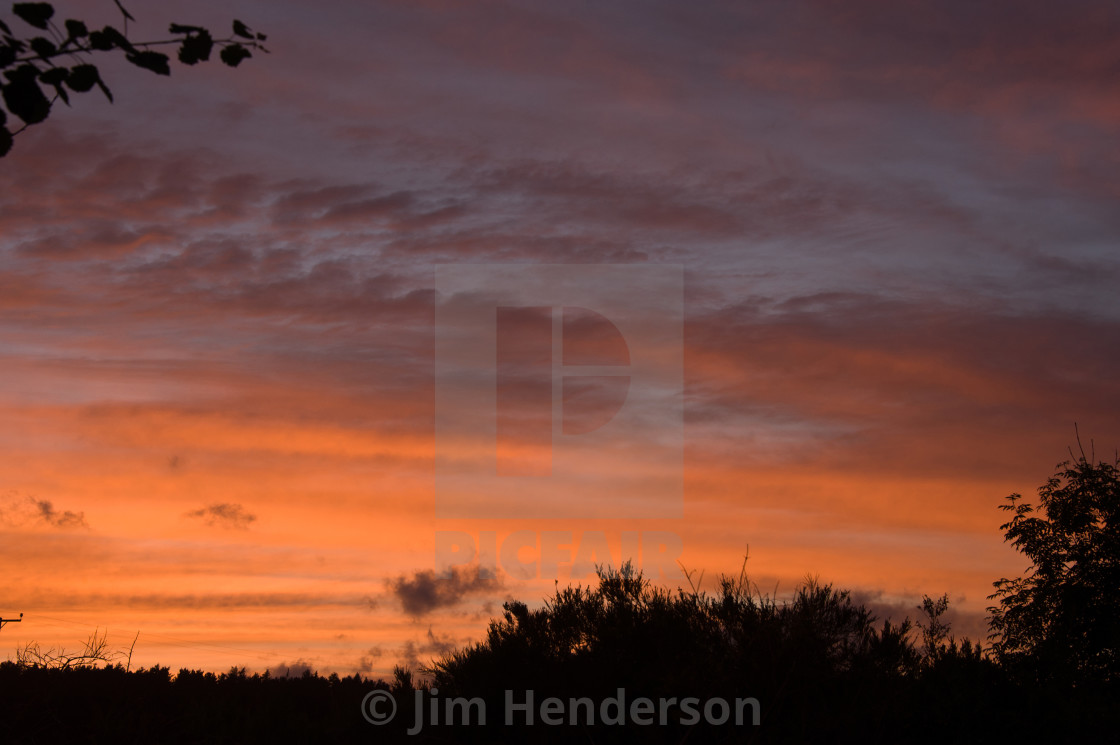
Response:
[{"label": "black low treeline and central shrubs, without the tall right-hand tree", "polygon": [[[1075,742],[1120,725],[1114,687],[1071,689],[1015,678],[940,622],[936,602],[921,628],[876,623],[847,592],[806,583],[787,602],[724,577],[712,594],[651,585],[624,566],[594,587],[558,588],[539,609],[511,602],[485,640],[447,654],[422,682],[398,669],[390,681],[361,676],[298,678],[214,674],[155,667],[50,669],[0,663],[6,743],[997,743]],[[922,633],[916,633],[921,631]],[[694,697],[753,698],[743,725],[664,726],[624,716],[608,724],[507,726],[506,691],[534,711],[550,697],[596,705],[624,690],[627,702]],[[394,719],[374,726],[365,697],[390,692]],[[422,729],[414,735],[417,691]],[[486,723],[446,716],[446,702],[479,699]],[[430,716],[436,701],[438,715]],[[463,709],[457,709],[461,715]],[[569,713],[570,714],[570,713]]]}]

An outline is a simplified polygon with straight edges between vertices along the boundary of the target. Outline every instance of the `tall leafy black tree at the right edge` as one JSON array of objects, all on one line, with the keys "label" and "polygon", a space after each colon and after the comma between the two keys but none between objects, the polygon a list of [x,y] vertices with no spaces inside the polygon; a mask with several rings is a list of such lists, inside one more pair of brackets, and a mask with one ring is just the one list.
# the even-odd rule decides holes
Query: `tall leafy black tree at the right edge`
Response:
[{"label": "tall leafy black tree at the right edge", "polygon": [[[1079,443],[1080,447],[1080,443]],[[1073,456],[1071,449],[1070,453]],[[1039,507],[1007,497],[1005,540],[1030,559],[1017,578],[993,583],[993,648],[1039,680],[1120,681],[1120,473],[1084,449],[1038,488]]]}]

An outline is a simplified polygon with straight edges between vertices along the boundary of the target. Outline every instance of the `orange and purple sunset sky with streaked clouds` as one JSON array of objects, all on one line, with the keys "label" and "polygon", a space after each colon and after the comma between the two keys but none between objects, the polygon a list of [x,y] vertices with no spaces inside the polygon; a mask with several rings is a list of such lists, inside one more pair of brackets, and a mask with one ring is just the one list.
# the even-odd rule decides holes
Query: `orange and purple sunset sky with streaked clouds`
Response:
[{"label": "orange and purple sunset sky with streaked clouds", "polygon": [[[571,580],[438,579],[437,531],[672,533],[706,589],[749,546],[764,592],[948,593],[976,636],[1026,566],[997,506],[1074,422],[1120,444],[1116,3],[125,4],[272,54],[106,58],[114,104],[0,159],[0,659],[100,627],[133,665],[385,674]],[[576,474],[632,516],[437,510],[467,264],[675,268],[676,429],[627,406],[683,441],[679,516],[645,446]]]}]

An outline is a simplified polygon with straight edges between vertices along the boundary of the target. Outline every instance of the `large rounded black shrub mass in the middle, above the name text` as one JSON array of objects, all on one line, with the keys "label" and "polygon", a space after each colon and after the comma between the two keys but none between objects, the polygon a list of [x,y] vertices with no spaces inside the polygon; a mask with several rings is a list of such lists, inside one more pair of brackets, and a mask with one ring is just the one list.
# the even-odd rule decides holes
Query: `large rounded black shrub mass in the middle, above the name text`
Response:
[{"label": "large rounded black shrub mass in the middle, above the name text", "polygon": [[[687,725],[678,709],[668,726],[640,728],[642,742],[866,743],[888,737],[930,698],[922,689],[930,671],[968,691],[991,672],[971,644],[944,644],[924,659],[911,632],[908,621],[877,625],[849,593],[812,579],[780,603],[758,593],[745,572],[720,578],[709,595],[655,587],[624,565],[600,570],[598,586],[558,588],[540,609],[507,603],[484,641],[440,658],[427,672],[441,697],[479,697],[494,720],[504,719],[507,689],[534,691],[538,705],[549,697],[598,701],[624,689],[629,700],[750,697],[760,705],[758,728]],[[958,706],[962,728],[982,718],[979,700]],[[575,736],[571,727],[531,729],[535,742]],[[939,737],[951,730],[942,726]],[[528,733],[461,735],[464,742],[519,742]],[[633,737],[629,729],[594,728],[596,743]]]}]

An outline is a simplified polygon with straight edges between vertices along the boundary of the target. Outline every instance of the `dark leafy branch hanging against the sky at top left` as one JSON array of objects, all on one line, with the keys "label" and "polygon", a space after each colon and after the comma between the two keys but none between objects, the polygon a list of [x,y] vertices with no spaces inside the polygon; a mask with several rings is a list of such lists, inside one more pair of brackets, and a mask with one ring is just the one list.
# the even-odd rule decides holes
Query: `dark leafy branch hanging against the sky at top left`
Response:
[{"label": "dark leafy branch hanging against the sky at top left", "polygon": [[[129,21],[136,19],[113,0],[121,11],[122,28],[105,26],[91,30],[81,20],[66,19],[62,27],[54,21],[55,9],[48,2],[17,2],[12,13],[24,24],[44,31],[44,35],[18,37],[3,20],[0,20],[0,83],[3,106],[0,108],[0,157],[8,155],[12,138],[31,124],[38,124],[50,115],[55,101],[62,99],[69,105],[71,93],[86,93],[94,86],[112,101],[113,94],[101,78],[96,65],[88,60],[94,53],[118,53],[138,67],[150,69],[157,75],[170,75],[169,57],[152,47],[178,46],[179,62],[195,65],[209,59],[215,47],[218,57],[230,67],[236,67],[252,56],[251,49],[268,52],[262,46],[263,34],[256,34],[240,20],[233,21],[233,32],[227,38],[215,39],[200,26],[171,24],[170,39],[155,41],[132,41],[128,37]],[[65,62],[65,64],[62,64]],[[53,89],[54,96],[47,97],[45,89]],[[9,129],[8,114],[24,122],[16,131]]]}]

